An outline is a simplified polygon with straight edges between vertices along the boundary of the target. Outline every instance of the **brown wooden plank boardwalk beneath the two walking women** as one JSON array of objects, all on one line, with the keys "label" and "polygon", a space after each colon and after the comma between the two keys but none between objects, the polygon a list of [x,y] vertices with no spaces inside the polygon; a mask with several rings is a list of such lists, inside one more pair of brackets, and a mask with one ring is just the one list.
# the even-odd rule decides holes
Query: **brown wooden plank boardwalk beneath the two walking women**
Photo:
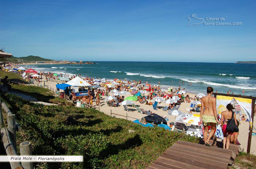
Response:
[{"label": "brown wooden plank boardwalk beneath the two walking women", "polygon": [[227,169],[228,164],[233,164],[238,147],[231,145],[226,150],[216,144],[210,147],[178,140],[147,169]]}]

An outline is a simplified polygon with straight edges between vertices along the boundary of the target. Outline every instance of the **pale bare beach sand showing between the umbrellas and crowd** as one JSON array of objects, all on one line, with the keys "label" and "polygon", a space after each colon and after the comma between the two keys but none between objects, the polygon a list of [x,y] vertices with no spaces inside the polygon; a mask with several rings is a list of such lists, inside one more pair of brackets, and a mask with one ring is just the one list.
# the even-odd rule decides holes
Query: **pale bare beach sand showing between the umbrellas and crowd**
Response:
[{"label": "pale bare beach sand showing between the umbrellas and crowd", "polygon": [[[45,81],[45,77],[42,76],[43,80]],[[52,89],[56,89],[56,84],[58,82],[45,82],[45,85],[47,85],[49,88],[52,88]],[[61,82],[59,82],[61,83]],[[32,84],[32,85],[35,85],[37,86],[38,83],[35,83],[35,84]],[[43,82],[40,82],[40,84],[43,84]],[[195,93],[187,93],[190,97],[194,97],[196,94]],[[113,93],[110,93],[110,95],[113,95]],[[127,96],[132,96],[131,94],[129,95],[125,95],[125,97]],[[105,113],[105,114],[108,114],[110,115],[110,110],[112,110],[112,113],[114,114],[120,114],[120,115],[127,115],[129,117],[133,117],[133,118],[129,118],[128,117],[128,120],[129,121],[134,121],[135,119],[142,119],[143,117],[146,116],[146,114],[141,114],[139,113],[137,110],[136,110],[136,107],[131,107],[129,109],[129,111],[125,111],[124,110],[124,107],[123,106],[119,106],[119,107],[110,107],[106,104],[106,102],[104,102],[105,96],[102,96],[102,99],[101,99],[101,106],[100,106],[100,111]],[[176,116],[173,116],[173,115],[168,115],[167,114],[167,111],[163,111],[162,110],[162,107],[165,107],[167,106],[166,103],[160,103],[159,104],[159,108],[158,110],[154,110],[153,109],[153,106],[150,106],[150,105],[146,105],[146,104],[141,104],[139,103],[139,101],[135,101],[134,102],[135,105],[138,105],[139,108],[142,108],[146,111],[150,110],[152,111],[153,113],[155,114],[158,114],[158,115],[161,115],[161,116],[164,116],[166,115],[166,117],[169,119],[167,121],[167,124],[169,125],[170,122],[175,122],[175,118]],[[93,106],[95,106],[95,101],[93,102]],[[182,113],[188,113],[188,111],[186,111],[186,109],[190,107],[190,103],[184,103],[182,102],[181,105],[180,105],[180,108],[179,110],[182,111]],[[192,112],[192,114],[200,114],[200,113],[196,113],[196,112]],[[245,115],[245,114],[244,114]],[[113,117],[116,117],[116,118],[123,118],[125,119],[125,117],[122,117],[122,116],[119,116],[119,115],[112,115]],[[237,116],[238,117],[238,116]],[[246,117],[246,115],[245,115]],[[254,121],[256,120],[256,118],[254,117]],[[245,121],[240,121],[240,125],[239,125],[239,135],[238,135],[238,141],[240,142],[240,147],[241,149],[244,149],[244,152],[246,152],[247,150],[247,142],[248,142],[248,133],[249,133],[249,122],[245,122]],[[218,139],[218,141],[221,141],[220,139]],[[255,136],[252,136],[252,141],[251,141],[251,154],[255,154],[256,155],[256,137]]]}]

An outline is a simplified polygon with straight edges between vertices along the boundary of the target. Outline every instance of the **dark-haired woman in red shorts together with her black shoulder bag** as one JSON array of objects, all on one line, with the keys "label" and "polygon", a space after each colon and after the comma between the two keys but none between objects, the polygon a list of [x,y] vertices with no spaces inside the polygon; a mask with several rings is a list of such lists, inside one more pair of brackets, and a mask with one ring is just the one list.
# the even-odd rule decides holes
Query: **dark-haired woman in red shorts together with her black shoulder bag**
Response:
[{"label": "dark-haired woman in red shorts together with her black shoulder bag", "polygon": [[230,144],[230,138],[231,135],[234,132],[238,132],[238,125],[237,125],[237,119],[236,119],[236,114],[233,112],[234,107],[229,103],[227,104],[227,110],[221,112],[221,123],[222,123],[222,131],[224,135],[223,139],[223,149],[225,149],[225,144],[226,144],[226,149],[229,149],[229,144]]}]

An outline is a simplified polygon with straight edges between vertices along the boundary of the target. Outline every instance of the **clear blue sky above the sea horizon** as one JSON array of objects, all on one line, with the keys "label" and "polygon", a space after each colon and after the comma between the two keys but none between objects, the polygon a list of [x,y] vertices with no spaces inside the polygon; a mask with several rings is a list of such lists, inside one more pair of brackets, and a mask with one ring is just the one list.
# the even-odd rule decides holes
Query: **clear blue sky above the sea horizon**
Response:
[{"label": "clear blue sky above the sea horizon", "polygon": [[[0,47],[55,60],[256,60],[255,1],[2,1]],[[223,17],[239,26],[187,26]]]}]

